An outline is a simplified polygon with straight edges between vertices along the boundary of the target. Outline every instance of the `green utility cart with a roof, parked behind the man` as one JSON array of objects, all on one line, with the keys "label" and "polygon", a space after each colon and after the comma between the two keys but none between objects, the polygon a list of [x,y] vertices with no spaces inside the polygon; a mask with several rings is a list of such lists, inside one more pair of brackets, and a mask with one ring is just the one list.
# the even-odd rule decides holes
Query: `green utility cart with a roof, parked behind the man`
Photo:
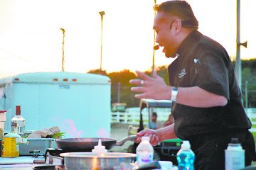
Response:
[{"label": "green utility cart with a roof, parked behind the man", "polygon": [[[143,98],[139,104],[139,128],[138,132],[144,130],[146,124],[149,123],[151,118],[151,114],[156,111],[156,109],[161,110],[161,108],[169,108],[169,114],[171,113],[171,101],[168,100],[152,100]],[[148,121],[145,121],[143,117],[144,110],[146,109],[146,116],[148,116]],[[166,114],[166,120],[169,117],[169,114]],[[145,115],[145,114],[144,114]],[[154,146],[155,151],[155,159],[159,157],[161,161],[171,161],[173,164],[177,164],[176,154],[179,149],[181,149],[181,139],[173,139],[173,140],[164,140],[160,142],[159,145]],[[136,152],[137,148],[136,143],[134,143],[133,152]]]}]

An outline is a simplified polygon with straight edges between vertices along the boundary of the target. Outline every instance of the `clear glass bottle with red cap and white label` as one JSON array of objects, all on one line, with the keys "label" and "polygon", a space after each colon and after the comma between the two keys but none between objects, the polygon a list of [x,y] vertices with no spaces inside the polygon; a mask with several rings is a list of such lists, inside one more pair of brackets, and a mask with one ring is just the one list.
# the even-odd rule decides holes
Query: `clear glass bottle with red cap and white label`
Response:
[{"label": "clear glass bottle with red cap and white label", "polygon": [[16,115],[11,119],[11,132],[18,133],[21,137],[25,132],[25,119],[21,116],[21,106],[16,106]]}]

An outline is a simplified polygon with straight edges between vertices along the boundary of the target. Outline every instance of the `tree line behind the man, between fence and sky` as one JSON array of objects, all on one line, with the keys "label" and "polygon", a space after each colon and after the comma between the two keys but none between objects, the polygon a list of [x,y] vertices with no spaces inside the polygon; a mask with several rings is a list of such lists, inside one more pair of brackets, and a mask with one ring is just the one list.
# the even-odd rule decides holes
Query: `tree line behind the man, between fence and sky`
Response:
[{"label": "tree line behind the man, between fence and sky", "polygon": [[[256,107],[256,59],[242,60],[242,101],[244,106],[249,108]],[[233,63],[235,66],[235,63]],[[168,81],[167,66],[156,67],[157,74],[164,78],[166,84]],[[126,103],[127,107],[139,107],[139,99],[135,98],[135,93],[130,89],[133,86],[129,84],[130,79],[139,79],[137,74],[129,69],[124,69],[119,72],[107,73],[106,70],[93,69],[88,73],[102,74],[111,79],[111,103]],[[151,75],[151,71],[144,72]],[[245,83],[246,82],[246,83]],[[247,92],[246,92],[247,91]],[[245,95],[247,93],[247,95]],[[245,98],[247,96],[247,99]],[[245,104],[247,101],[247,105]]]}]

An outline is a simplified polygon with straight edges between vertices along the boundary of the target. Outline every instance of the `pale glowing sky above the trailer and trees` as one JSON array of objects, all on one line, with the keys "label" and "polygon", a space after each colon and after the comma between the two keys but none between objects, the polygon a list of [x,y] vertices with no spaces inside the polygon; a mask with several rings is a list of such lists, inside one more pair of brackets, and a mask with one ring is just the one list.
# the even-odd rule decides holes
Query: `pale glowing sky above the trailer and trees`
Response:
[{"label": "pale glowing sky above the trailer and trees", "polygon": [[[156,3],[162,1],[157,0]],[[236,1],[188,0],[199,31],[236,50]],[[102,69],[144,71],[152,65],[154,0],[0,0],[0,78],[24,72],[60,72],[65,29],[65,71],[100,68],[99,11],[103,18]],[[244,59],[256,57],[255,0],[241,0]],[[161,50],[155,64],[167,65]]]}]

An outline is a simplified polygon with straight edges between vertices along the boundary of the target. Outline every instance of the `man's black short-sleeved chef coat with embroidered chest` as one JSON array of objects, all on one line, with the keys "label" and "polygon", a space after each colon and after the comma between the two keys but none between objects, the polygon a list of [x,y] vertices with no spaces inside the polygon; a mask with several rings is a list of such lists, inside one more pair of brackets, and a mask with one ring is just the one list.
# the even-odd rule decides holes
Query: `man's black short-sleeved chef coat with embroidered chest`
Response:
[{"label": "man's black short-sleeved chef coat with embroidered chest", "polygon": [[224,47],[195,30],[183,40],[177,54],[168,67],[171,86],[198,86],[224,96],[228,104],[198,108],[175,103],[172,114],[176,135],[188,140],[193,135],[251,128],[242,107],[233,64]]}]

